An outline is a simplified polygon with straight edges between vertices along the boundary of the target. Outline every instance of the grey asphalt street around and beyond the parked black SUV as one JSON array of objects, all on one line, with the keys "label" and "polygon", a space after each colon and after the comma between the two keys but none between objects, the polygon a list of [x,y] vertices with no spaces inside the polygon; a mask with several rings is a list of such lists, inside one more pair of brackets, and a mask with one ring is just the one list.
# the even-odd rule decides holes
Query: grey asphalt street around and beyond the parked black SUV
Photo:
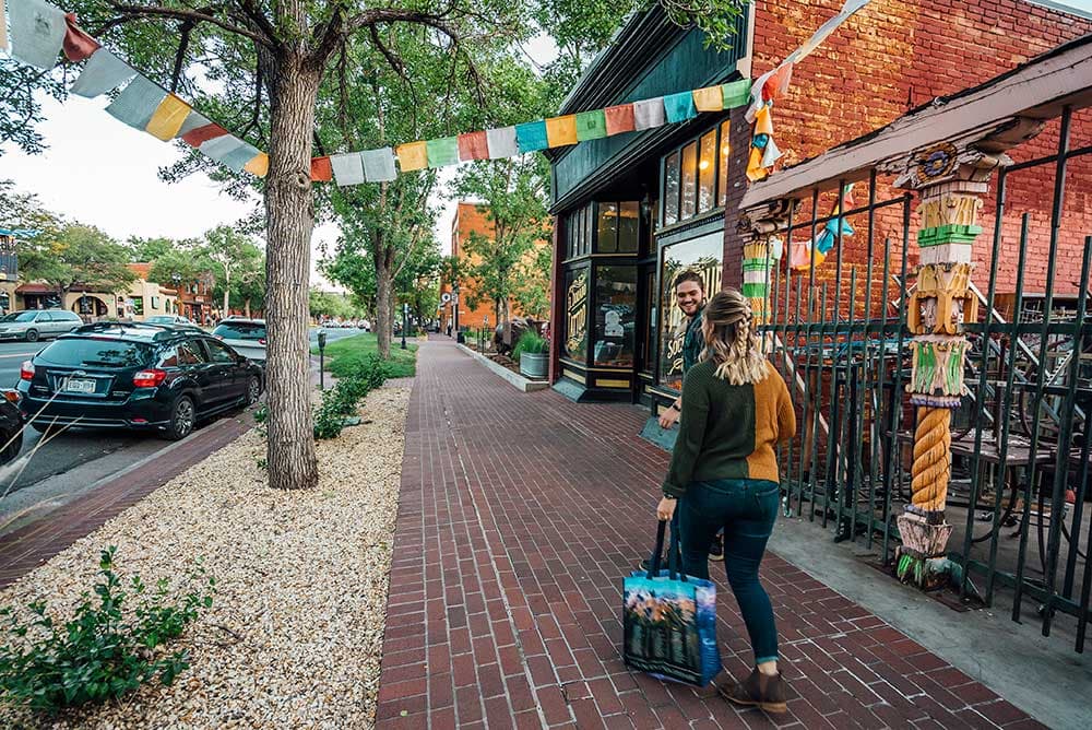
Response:
[{"label": "grey asphalt street around and beyond the parked black SUV", "polygon": [[[318,328],[311,328],[310,341],[318,341]],[[329,329],[328,342],[359,334],[351,328]],[[0,343],[0,388],[13,388],[19,382],[22,363],[34,356],[49,342]],[[38,445],[41,436],[27,428],[23,436],[25,457]],[[151,457],[170,441],[151,434],[79,428],[67,431],[48,444],[43,444],[29,459],[16,459],[0,467],[0,532],[40,517],[98,480]],[[29,510],[29,511],[27,511]],[[4,525],[15,515],[22,519]]]}]

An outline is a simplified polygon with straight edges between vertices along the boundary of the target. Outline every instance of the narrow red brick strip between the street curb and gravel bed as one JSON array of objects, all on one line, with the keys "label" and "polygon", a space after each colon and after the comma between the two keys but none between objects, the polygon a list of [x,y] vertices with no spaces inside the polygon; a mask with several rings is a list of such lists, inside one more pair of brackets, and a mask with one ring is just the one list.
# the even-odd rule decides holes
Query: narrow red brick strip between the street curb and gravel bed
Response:
[{"label": "narrow red brick strip between the street curb and gravel bed", "polygon": [[[216,449],[253,427],[250,413],[216,421],[43,519],[0,535],[0,588],[91,534]],[[154,438],[154,436],[150,436]]]}]

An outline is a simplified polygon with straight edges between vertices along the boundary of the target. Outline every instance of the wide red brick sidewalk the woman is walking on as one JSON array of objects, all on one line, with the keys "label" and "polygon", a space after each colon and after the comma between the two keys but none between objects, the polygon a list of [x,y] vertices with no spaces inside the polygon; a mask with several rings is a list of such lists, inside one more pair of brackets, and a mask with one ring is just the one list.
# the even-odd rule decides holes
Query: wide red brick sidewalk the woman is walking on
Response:
[{"label": "wide red brick sidewalk the woman is walking on", "polygon": [[[620,584],[667,464],[643,412],[521,393],[443,341],[422,346],[410,408],[379,727],[1042,727],[775,555],[787,715],[628,671]],[[727,682],[751,654],[719,581]]]}]

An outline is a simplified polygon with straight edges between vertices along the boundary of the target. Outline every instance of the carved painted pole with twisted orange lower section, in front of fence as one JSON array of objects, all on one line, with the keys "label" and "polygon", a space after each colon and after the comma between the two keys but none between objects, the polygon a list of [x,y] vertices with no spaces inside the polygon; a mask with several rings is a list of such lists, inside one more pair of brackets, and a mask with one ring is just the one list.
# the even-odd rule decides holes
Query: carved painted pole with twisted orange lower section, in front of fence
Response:
[{"label": "carved painted pole with twisted orange lower section, in front of fence", "polygon": [[978,301],[970,287],[972,246],[982,233],[978,211],[989,176],[1007,162],[1004,155],[939,144],[915,154],[909,172],[895,182],[921,193],[921,261],[906,314],[914,335],[906,390],[917,409],[917,429],[913,496],[898,519],[902,546],[895,553],[897,573],[904,582],[923,589],[943,585],[949,575],[946,549],[952,527],[945,520],[951,479],[949,427],[952,409],[965,392],[963,325],[978,315]]}]

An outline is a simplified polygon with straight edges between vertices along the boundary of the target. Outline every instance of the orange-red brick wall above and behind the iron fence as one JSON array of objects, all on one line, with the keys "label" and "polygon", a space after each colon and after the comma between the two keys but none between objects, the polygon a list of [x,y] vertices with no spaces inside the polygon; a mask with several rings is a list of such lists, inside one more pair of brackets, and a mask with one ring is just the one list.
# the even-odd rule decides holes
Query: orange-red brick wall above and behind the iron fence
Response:
[{"label": "orange-red brick wall above and behind the iron fence", "polygon": [[[755,21],[752,75],[768,71],[798,47],[823,21],[835,14],[842,0],[759,0]],[[793,74],[787,98],[774,109],[776,140],[785,151],[784,164],[794,164],[887,125],[911,108],[981,84],[1066,40],[1092,32],[1092,23],[1022,0],[885,0],[860,11],[835,32],[815,54],[805,59]],[[1013,150],[1017,161],[1036,158],[1057,151],[1058,122],[1048,125],[1035,140]],[[1072,148],[1092,139],[1092,114],[1075,115]],[[746,155],[746,143],[737,145],[737,157]],[[737,166],[738,167],[738,166]],[[889,199],[889,180],[880,180],[877,198]],[[1019,216],[1031,213],[1031,236],[1025,291],[1043,291],[1049,246],[1049,205],[1054,187],[1054,167],[1046,165],[1012,175],[1009,179],[1002,248],[998,261],[998,292],[1012,291],[1016,280]],[[1085,234],[1092,234],[1089,191],[1092,190],[1092,157],[1075,160],[1069,165],[1065,217],[1059,232],[1059,272],[1056,291],[1073,291],[1079,278],[1081,248]],[[867,200],[867,186],[858,186],[856,202]],[[809,209],[809,205],[805,205]],[[915,204],[916,208],[916,204]],[[976,244],[978,269],[975,281],[983,292],[989,279],[994,201],[987,201],[982,224],[986,233]],[[820,203],[820,214],[829,214],[829,198]],[[737,285],[729,272],[738,268],[740,249],[735,236],[736,213],[729,207],[725,233],[725,284]],[[805,210],[805,216],[810,215]],[[860,233],[867,229],[865,216],[851,221]],[[912,223],[916,231],[916,213]],[[874,267],[882,267],[882,243],[890,236],[894,245],[892,271],[900,268],[901,212],[885,212],[877,217]],[[909,249],[910,264],[917,251]],[[864,276],[867,266],[867,236],[846,239],[843,255],[841,310],[848,314],[848,274],[858,269]],[[817,284],[833,286],[834,252],[816,272]],[[1076,270],[1070,275],[1069,270]],[[1065,275],[1063,275],[1064,272]],[[879,275],[878,273],[876,274]],[[862,287],[864,282],[862,281]],[[863,298],[863,291],[858,291]],[[833,292],[831,292],[833,297]],[[874,287],[874,313],[885,298],[881,287]],[[858,305],[859,309],[859,305]],[[860,311],[859,314],[863,314]]]}]

